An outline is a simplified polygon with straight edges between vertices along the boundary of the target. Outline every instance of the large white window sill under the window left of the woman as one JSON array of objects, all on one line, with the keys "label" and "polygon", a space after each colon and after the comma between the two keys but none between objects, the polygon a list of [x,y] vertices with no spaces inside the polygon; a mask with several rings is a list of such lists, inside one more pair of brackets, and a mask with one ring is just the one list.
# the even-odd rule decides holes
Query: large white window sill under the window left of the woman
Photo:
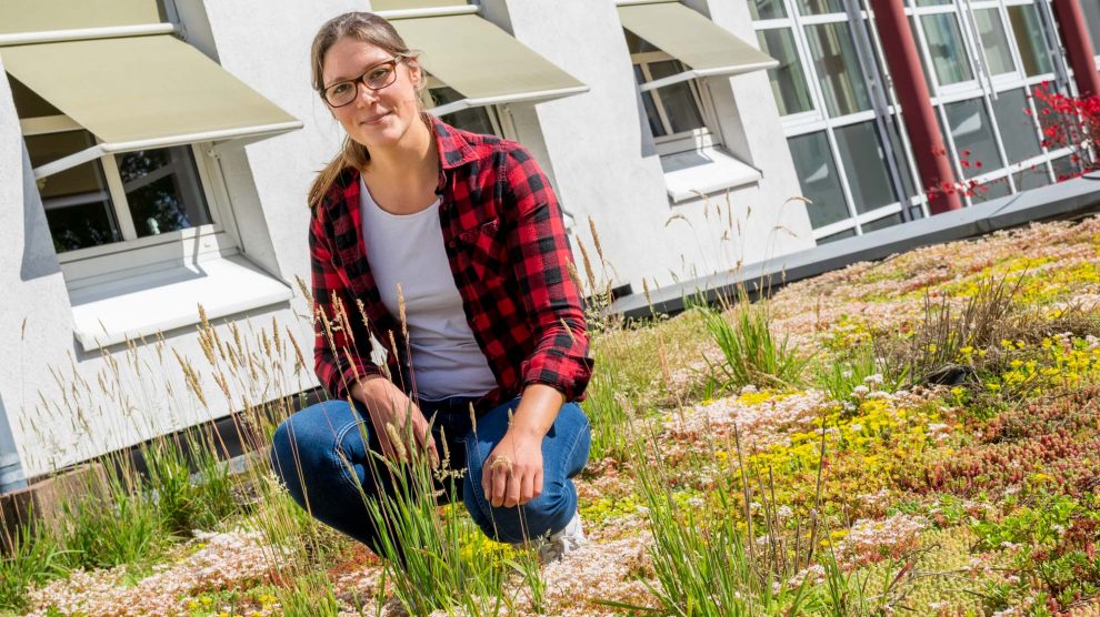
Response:
[{"label": "large white window sill under the window left of the woman", "polygon": [[77,341],[91,352],[199,323],[198,305],[217,318],[287,302],[281,281],[241,256],[176,265],[69,293]]}]

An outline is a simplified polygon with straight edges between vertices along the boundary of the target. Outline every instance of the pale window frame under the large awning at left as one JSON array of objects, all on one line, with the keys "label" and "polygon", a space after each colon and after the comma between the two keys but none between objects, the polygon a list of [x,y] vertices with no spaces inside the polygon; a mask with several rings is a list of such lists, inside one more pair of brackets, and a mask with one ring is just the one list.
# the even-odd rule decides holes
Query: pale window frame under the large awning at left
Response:
[{"label": "pale window frame under the large awning at left", "polygon": [[[66,114],[20,119],[19,122],[22,138],[87,130]],[[98,138],[96,141],[102,143]],[[130,219],[129,201],[116,159],[122,153],[107,153],[93,160],[103,173],[111,209],[119,223],[122,240],[57,253],[70,290],[118,279],[122,271],[153,271],[163,267],[164,262],[178,262],[184,259],[182,250],[184,243],[194,244],[187,254],[196,261],[202,261],[211,255],[228,256],[239,252],[237,220],[232,209],[229,208],[229,191],[224,184],[224,176],[218,160],[208,154],[208,149],[212,145],[212,143],[186,145],[194,162],[196,181],[206,199],[211,222],[144,237],[137,236]],[[23,146],[27,146],[26,141]],[[39,199],[41,200],[41,193]],[[132,237],[128,237],[129,235]]]}]

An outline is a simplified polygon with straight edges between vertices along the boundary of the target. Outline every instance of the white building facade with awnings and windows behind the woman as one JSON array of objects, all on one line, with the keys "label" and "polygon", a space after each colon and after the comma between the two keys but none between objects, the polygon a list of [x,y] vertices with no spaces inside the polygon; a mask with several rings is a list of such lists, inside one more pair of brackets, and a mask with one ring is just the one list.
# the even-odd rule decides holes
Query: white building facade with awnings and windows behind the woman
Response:
[{"label": "white building facade with awnings and windows behind the woman", "polygon": [[342,139],[309,47],[351,10],[422,52],[434,113],[532,151],[601,283],[813,245],[743,2],[9,0],[0,492],[316,386],[260,371],[214,396],[186,366],[199,306],[226,340],[274,324],[309,352],[306,192]]}]

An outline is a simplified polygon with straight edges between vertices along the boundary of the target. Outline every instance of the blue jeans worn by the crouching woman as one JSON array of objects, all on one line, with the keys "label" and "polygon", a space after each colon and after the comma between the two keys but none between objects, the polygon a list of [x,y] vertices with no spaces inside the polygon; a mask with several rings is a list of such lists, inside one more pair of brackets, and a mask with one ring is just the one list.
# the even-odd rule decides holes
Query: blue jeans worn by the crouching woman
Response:
[{"label": "blue jeans worn by the crouching woman", "polygon": [[[542,439],[542,494],[519,507],[493,507],[481,487],[481,468],[503,438],[509,409],[517,407],[519,398],[478,416],[476,427],[470,421],[470,401],[420,402],[440,457],[447,439],[449,467],[464,471],[453,489],[444,489],[443,502],[461,497],[473,522],[498,542],[518,543],[563,529],[577,512],[577,489],[570,478],[584,468],[591,444],[584,412],[576,403],[566,403]],[[396,488],[370,452],[382,451],[367,408],[358,402],[352,408],[347,401],[327,401],[279,425],[271,464],[300,506],[381,555],[366,500],[393,495]]]}]

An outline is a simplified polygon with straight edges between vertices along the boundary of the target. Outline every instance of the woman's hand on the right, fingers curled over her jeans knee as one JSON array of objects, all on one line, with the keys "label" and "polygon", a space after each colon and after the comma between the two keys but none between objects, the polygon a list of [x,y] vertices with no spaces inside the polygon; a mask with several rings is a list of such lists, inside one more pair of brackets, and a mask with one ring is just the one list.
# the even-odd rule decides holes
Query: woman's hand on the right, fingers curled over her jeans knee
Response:
[{"label": "woman's hand on the right, fingers curled over her jeans knee", "polygon": [[493,507],[521,506],[542,494],[542,438],[509,429],[486,458],[481,487]]}]

